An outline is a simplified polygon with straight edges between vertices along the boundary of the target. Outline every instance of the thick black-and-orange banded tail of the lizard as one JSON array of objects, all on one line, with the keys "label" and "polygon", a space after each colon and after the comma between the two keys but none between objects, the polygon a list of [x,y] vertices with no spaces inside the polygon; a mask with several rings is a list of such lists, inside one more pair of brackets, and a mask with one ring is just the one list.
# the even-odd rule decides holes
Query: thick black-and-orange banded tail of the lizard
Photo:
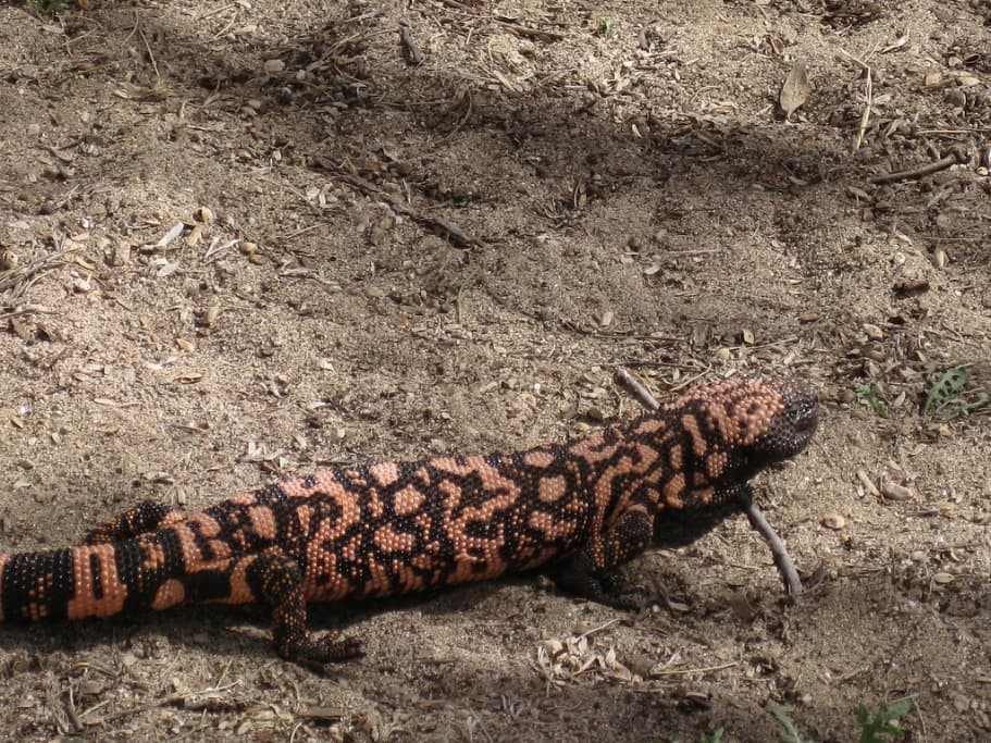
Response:
[{"label": "thick black-and-orange banded tail of the lizard", "polygon": [[177,566],[153,542],[0,553],[0,621],[110,617],[184,598]]}]

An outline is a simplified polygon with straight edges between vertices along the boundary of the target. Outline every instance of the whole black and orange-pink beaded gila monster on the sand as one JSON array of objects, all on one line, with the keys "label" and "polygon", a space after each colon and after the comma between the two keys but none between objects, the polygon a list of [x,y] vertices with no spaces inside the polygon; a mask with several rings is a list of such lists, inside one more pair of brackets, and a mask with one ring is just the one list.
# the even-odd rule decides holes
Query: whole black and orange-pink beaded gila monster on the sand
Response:
[{"label": "whole black and orange-pink beaded gila monster on the sand", "polygon": [[258,603],[277,653],[320,665],[361,649],[336,632],[311,637],[308,602],[543,566],[559,587],[621,606],[609,573],[732,512],[754,474],[805,447],[817,408],[802,383],[730,380],[525,451],[333,469],[188,516],[146,501],[82,546],[0,553],[0,621]]}]

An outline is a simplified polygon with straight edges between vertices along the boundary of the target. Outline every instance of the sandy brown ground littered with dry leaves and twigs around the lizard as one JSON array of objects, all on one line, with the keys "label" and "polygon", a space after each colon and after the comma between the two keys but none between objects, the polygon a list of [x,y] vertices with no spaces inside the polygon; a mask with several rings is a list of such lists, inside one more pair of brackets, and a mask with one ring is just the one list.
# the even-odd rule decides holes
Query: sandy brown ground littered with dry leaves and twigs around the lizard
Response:
[{"label": "sandy brown ground littered with dry leaves and twigs around the lizard", "polygon": [[735,519],[631,566],[641,612],[533,577],[318,609],[368,652],[324,677],[251,609],[3,626],[0,735],[769,741],[780,708],[847,741],[858,703],[905,696],[911,740],[991,735],[991,434],[987,408],[951,420],[991,379],[989,17],[0,5],[5,550],[143,499],[580,434],[635,411],[619,366],[660,397],[764,373],[823,400],[758,483],[795,604]]}]

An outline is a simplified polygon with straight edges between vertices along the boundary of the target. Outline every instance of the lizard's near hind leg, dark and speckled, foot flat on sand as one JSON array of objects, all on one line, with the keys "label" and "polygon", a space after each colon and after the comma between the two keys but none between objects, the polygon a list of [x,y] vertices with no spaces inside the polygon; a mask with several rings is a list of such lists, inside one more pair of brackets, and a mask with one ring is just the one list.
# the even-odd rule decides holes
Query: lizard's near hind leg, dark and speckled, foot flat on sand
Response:
[{"label": "lizard's near hind leg, dark and speckled, foot flat on sand", "polygon": [[295,559],[278,547],[245,559],[251,560],[244,573],[247,587],[259,603],[272,609],[272,637],[280,656],[319,670],[324,664],[363,655],[357,640],[337,632],[318,640],[310,636],[302,572]]}]

